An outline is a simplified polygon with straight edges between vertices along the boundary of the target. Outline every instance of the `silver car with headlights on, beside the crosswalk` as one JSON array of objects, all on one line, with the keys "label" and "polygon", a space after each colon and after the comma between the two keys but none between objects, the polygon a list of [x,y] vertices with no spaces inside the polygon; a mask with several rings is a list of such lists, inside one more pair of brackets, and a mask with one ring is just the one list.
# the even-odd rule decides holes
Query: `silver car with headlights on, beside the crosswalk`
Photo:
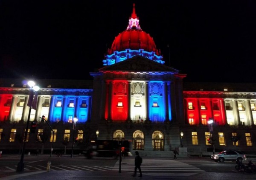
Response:
[{"label": "silver car with headlights on, beside the crosswalk", "polygon": [[214,160],[215,162],[220,161],[221,163],[224,162],[225,160],[234,162],[238,160],[239,162],[242,162],[243,160],[246,160],[246,156],[241,151],[224,150],[218,154],[212,155],[211,159]]}]

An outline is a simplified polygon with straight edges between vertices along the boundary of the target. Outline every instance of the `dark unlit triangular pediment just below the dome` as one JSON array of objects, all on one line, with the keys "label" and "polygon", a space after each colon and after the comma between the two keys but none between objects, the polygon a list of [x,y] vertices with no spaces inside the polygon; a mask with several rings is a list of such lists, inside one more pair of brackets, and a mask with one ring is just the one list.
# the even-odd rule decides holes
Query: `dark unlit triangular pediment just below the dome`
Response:
[{"label": "dark unlit triangular pediment just below the dome", "polygon": [[158,62],[154,62],[148,58],[143,56],[134,56],[130,59],[126,59],[122,62],[118,62],[113,65],[106,66],[104,68],[99,69],[99,71],[148,71],[148,72],[175,72],[179,71],[170,68],[169,66],[162,65]]}]

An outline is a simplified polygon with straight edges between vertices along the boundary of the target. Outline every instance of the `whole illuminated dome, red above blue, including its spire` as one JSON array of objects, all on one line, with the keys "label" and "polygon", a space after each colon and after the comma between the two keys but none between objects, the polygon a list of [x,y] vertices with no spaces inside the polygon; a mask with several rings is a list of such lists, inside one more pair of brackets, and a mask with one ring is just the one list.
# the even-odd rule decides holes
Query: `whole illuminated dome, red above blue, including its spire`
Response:
[{"label": "whole illuminated dome, red above blue, including its spire", "polygon": [[139,18],[135,13],[135,4],[133,4],[128,27],[115,37],[105,56],[106,59],[103,60],[103,65],[113,65],[133,56],[143,56],[164,64],[161,51],[157,50],[153,38],[140,28]]}]

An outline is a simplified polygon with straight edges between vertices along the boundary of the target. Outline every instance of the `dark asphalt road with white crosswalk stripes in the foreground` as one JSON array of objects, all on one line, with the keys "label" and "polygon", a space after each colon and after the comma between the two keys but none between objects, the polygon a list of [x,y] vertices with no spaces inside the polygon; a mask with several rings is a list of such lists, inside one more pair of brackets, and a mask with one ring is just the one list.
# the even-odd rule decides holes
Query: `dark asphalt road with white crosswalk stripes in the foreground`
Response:
[{"label": "dark asphalt road with white crosswalk stripes in the foreground", "polygon": [[[2,156],[0,159],[1,180],[250,180],[256,174],[240,173],[235,170],[235,163],[216,163],[210,158],[146,158],[143,157],[143,177],[132,177],[134,157],[119,159],[93,158],[70,155],[61,158],[49,155],[25,156],[24,172],[16,172],[19,155]],[[51,162],[49,171],[47,163]],[[247,162],[244,162],[247,163]],[[256,160],[253,159],[253,163]],[[121,172],[119,172],[121,170]],[[139,175],[139,174],[138,174]]]}]

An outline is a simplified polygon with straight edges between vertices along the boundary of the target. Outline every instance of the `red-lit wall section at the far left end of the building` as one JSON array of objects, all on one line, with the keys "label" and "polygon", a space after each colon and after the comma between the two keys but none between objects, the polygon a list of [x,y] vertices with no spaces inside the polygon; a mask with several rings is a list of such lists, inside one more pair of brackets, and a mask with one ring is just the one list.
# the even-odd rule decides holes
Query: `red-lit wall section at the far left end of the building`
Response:
[{"label": "red-lit wall section at the far left end of the building", "polygon": [[12,95],[2,94],[0,96],[0,121],[5,121],[9,117]]}]

